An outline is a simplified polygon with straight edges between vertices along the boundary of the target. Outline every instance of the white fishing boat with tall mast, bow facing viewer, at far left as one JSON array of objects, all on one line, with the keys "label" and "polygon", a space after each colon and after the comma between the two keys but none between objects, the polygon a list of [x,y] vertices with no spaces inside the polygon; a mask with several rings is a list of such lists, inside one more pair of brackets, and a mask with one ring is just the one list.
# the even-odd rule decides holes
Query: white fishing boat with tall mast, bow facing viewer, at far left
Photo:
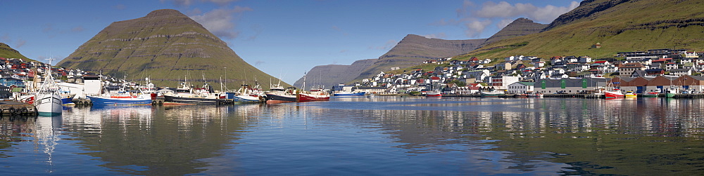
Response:
[{"label": "white fishing boat with tall mast, bow facing viewer, at far left", "polygon": [[60,115],[63,110],[63,103],[61,101],[60,93],[61,88],[59,88],[56,84],[54,76],[51,76],[51,60],[54,59],[47,60],[49,60],[49,69],[46,69],[48,72],[45,76],[44,82],[41,86],[39,86],[37,92],[34,93],[32,102],[34,106],[37,107],[37,112],[39,115]]}]

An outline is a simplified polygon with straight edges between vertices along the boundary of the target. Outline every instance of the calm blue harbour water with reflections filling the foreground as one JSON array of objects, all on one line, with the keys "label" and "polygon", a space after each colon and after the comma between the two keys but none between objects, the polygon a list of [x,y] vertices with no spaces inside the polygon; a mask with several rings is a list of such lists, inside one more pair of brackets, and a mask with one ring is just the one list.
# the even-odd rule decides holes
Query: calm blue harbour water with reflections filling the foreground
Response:
[{"label": "calm blue harbour water with reflections filling the foreground", "polygon": [[0,121],[2,175],[700,175],[704,100],[337,98]]}]

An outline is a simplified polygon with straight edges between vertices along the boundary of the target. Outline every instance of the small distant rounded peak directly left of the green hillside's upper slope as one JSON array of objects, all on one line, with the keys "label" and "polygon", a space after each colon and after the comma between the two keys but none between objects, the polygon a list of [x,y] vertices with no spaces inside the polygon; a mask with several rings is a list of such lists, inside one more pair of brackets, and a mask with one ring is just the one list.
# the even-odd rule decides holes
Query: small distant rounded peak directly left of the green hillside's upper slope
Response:
[{"label": "small distant rounded peak directly left of the green hillside's upper slope", "polygon": [[533,20],[528,20],[527,18],[518,18],[506,25],[506,27],[503,27],[500,31],[496,32],[493,36],[489,37],[489,39],[486,39],[483,45],[501,41],[503,39],[511,39],[516,36],[535,34],[543,31],[543,29],[547,26],[548,25],[533,22]]}]

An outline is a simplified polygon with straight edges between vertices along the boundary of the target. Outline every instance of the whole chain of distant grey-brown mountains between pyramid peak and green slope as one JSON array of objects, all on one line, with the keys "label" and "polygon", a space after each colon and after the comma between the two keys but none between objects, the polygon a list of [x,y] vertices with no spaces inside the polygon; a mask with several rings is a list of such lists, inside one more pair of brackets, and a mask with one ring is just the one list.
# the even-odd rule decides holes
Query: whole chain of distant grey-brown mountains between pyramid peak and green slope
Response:
[{"label": "whole chain of distant grey-brown mountains between pyramid peak and green slope", "polygon": [[[389,52],[375,60],[358,60],[365,61],[362,63],[355,62],[351,66],[346,65],[322,65],[313,67],[306,74],[308,85],[310,81],[319,81],[325,87],[334,86],[338,83],[351,83],[360,81],[361,79],[370,78],[379,72],[387,72],[391,67],[400,69],[418,65],[422,61],[438,59],[443,57],[451,57],[484,46],[495,41],[510,39],[516,36],[524,36],[527,34],[535,34],[541,32],[547,25],[539,24],[528,20],[527,18],[518,18],[509,25],[501,29],[501,31],[489,37],[489,39],[470,39],[470,40],[443,40],[443,39],[428,39],[423,36],[409,34],[401,42],[398,42]],[[360,67],[367,65],[366,67]],[[320,72],[327,73],[320,76]],[[330,76],[332,75],[332,76]],[[322,77],[322,78],[321,78]],[[322,80],[322,81],[321,81]],[[303,78],[298,79],[294,86],[301,86]],[[318,83],[318,82],[315,82]]]}]

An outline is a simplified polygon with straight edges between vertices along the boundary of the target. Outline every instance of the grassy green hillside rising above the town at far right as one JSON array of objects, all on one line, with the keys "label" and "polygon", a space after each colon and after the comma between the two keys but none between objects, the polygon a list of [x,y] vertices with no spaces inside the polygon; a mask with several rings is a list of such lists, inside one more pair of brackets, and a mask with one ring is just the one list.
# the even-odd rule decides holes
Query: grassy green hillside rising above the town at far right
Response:
[{"label": "grassy green hillside rising above the town at far right", "polygon": [[[602,48],[591,48],[595,43]],[[511,45],[515,47],[507,47]],[[654,48],[702,50],[704,1],[582,1],[541,33],[491,43],[466,56],[612,57],[617,52]]]}]

